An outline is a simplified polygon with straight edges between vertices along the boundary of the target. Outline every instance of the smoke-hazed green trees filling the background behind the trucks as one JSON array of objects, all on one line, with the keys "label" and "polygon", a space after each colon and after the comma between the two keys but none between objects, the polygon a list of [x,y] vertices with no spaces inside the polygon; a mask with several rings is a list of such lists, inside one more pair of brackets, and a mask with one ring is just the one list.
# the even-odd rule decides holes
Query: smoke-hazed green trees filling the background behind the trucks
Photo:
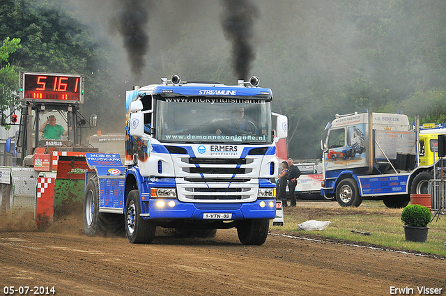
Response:
[{"label": "smoke-hazed green trees filling the background behind the trucks", "polygon": [[[446,1],[250,2],[258,17],[249,72],[272,88],[273,110],[289,116],[291,157],[320,157],[323,127],[334,114],[401,110],[411,120],[420,114],[424,123],[446,122]],[[113,30],[123,6],[148,36],[140,73]],[[84,74],[84,115],[98,114],[102,132],[119,132],[133,85],[173,74],[240,79],[223,11],[217,0],[3,0],[0,38],[21,40],[8,58],[15,71]]]}]

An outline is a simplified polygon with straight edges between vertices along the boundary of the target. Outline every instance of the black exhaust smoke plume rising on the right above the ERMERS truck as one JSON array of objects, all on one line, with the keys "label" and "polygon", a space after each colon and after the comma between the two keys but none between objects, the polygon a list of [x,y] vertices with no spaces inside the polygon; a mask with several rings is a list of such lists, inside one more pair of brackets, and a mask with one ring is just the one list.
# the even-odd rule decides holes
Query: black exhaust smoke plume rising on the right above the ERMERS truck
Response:
[{"label": "black exhaust smoke plume rising on the right above the ERMERS truck", "polygon": [[224,35],[232,44],[233,69],[237,79],[246,80],[256,58],[252,38],[259,11],[250,0],[221,0],[221,4]]}]

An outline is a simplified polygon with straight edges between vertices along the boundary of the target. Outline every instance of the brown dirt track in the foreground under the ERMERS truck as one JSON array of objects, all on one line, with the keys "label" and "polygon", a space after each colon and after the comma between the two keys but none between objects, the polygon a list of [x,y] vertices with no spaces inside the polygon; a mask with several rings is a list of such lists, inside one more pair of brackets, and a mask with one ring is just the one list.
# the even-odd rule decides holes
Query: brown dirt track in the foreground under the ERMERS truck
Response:
[{"label": "brown dirt track in the foreground under the ERMERS truck", "polygon": [[45,232],[23,221],[27,231],[12,231],[17,224],[1,221],[1,293],[5,286],[54,286],[56,295],[391,295],[391,287],[408,287],[419,295],[417,286],[425,286],[446,295],[443,259],[279,231],[259,247],[240,244],[234,229],[212,239],[157,231],[153,244],[138,245],[87,237],[77,215]]}]

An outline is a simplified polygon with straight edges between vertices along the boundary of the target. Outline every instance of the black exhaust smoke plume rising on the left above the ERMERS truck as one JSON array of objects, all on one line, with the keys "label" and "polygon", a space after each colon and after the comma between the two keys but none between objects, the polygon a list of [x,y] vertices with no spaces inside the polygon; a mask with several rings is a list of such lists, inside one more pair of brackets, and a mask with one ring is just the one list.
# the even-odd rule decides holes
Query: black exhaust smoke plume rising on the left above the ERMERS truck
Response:
[{"label": "black exhaust smoke plume rising on the left above the ERMERS truck", "polygon": [[141,76],[146,66],[144,56],[148,53],[148,22],[150,0],[117,0],[118,9],[111,22],[112,30],[123,37],[123,45],[128,54],[131,70],[134,75]]}]

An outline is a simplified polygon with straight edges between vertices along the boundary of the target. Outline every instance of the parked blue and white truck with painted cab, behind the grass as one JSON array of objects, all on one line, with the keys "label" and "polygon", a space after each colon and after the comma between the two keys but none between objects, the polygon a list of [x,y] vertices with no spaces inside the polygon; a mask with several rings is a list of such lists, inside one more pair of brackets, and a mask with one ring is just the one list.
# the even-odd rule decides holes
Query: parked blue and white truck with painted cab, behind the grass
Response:
[{"label": "parked blue and white truck with painted cab, behind the grass", "polygon": [[418,121],[412,128],[403,114],[337,115],[321,141],[321,195],[341,206],[357,207],[363,198],[374,198],[388,208],[403,208],[410,194],[426,194],[435,166],[420,166]]}]

